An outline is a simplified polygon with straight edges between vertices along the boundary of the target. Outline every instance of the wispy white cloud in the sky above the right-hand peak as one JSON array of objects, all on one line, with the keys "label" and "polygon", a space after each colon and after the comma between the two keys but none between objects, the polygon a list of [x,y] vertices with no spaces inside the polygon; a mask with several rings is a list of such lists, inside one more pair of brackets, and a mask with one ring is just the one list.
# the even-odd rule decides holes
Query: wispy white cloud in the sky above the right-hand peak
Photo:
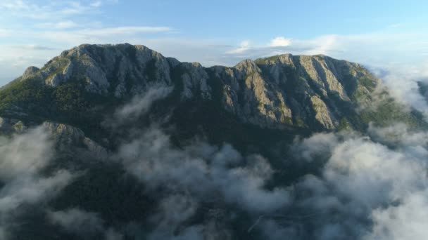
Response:
[{"label": "wispy white cloud in the sky above the right-hand peak", "polygon": [[[421,60],[427,53],[425,32],[391,32],[382,30],[367,34],[329,34],[312,39],[287,39],[279,36],[261,44],[243,48],[244,51],[227,51],[239,58],[260,58],[278,53],[325,54],[366,65],[385,66],[386,62]],[[238,48],[239,49],[239,48]]]}]

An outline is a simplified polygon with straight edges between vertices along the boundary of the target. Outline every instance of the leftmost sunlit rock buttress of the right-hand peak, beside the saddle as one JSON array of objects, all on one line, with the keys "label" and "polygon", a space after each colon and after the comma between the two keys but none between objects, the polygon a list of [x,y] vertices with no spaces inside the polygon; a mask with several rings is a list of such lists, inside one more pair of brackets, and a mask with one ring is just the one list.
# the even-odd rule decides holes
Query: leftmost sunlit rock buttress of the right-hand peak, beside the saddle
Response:
[{"label": "leftmost sunlit rock buttress of the right-hand peak, beside the saddle", "polygon": [[232,68],[213,68],[222,81],[222,103],[229,112],[251,124],[275,127],[291,123],[291,109],[285,93],[263,78],[253,60],[244,60]]}]

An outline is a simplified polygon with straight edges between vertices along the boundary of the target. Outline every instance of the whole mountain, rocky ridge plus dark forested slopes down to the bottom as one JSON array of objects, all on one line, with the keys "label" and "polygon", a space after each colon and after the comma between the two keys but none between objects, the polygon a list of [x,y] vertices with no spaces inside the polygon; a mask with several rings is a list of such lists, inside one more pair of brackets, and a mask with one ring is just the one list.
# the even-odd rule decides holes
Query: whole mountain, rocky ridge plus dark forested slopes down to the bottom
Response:
[{"label": "whole mountain, rocky ridge plus dark forested slopes down to the bottom", "polygon": [[[323,158],[312,164],[290,161],[298,136],[341,130],[363,134],[370,126],[395,122],[427,127],[419,112],[391,98],[365,67],[325,55],[284,54],[244,60],[234,67],[203,67],[165,58],[145,46],[81,45],[41,69],[28,67],[23,76],[0,88],[0,134],[9,139],[4,151],[25,152],[30,146],[27,150],[37,155],[40,151],[31,147],[34,140],[19,136],[30,135],[38,142],[47,134],[51,145],[43,149],[53,153],[41,157],[51,159],[49,164],[40,165],[37,174],[24,168],[25,174],[51,180],[64,169],[75,173],[74,180],[49,199],[20,202],[25,211],[16,213],[18,217],[4,211],[0,230],[5,225],[5,232],[15,236],[11,239],[190,239],[186,234],[192,232],[186,231],[196,229],[186,226],[203,226],[206,239],[258,239],[261,233],[248,229],[251,219],[271,211],[276,202],[261,208],[263,204],[253,206],[257,199],[251,196],[246,208],[240,208],[234,194],[256,176],[261,182],[255,183],[257,193],[266,195],[266,187],[282,196],[282,191],[275,192],[277,186],[318,174]],[[267,165],[257,160],[259,155]],[[134,165],[137,156],[151,164]],[[153,159],[165,165],[156,168]],[[187,165],[188,159],[206,159],[204,173],[221,170],[225,175],[196,178],[192,169],[197,167]],[[215,164],[218,161],[224,165]],[[176,173],[180,178],[173,169],[163,172],[171,166],[182,169]],[[239,169],[241,174],[234,175]],[[236,187],[234,192],[217,178],[232,181],[226,185]],[[2,178],[0,187],[9,186],[11,179]],[[210,190],[196,190],[198,180],[201,185],[210,182]],[[178,187],[171,187],[175,184]],[[177,193],[192,198],[183,200]],[[213,193],[220,194],[220,200],[206,199]],[[168,211],[177,213],[165,210],[160,216],[158,210],[171,199],[175,208]],[[197,206],[192,205],[195,199]],[[77,234],[70,230],[82,218],[95,230],[85,233],[84,225]],[[168,227],[158,218],[172,223]],[[156,235],[160,232],[167,235]]]}]

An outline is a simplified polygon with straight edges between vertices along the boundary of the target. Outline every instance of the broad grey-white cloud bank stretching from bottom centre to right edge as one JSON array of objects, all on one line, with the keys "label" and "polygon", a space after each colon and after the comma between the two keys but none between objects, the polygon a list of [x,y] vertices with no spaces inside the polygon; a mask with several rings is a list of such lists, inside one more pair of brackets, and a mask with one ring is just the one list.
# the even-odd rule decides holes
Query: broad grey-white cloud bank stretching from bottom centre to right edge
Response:
[{"label": "broad grey-white cloud bank stretching from bottom centre to right edge", "polygon": [[[153,100],[135,102],[145,109]],[[239,218],[248,221],[248,236],[265,239],[423,238],[428,219],[417,209],[427,207],[428,133],[396,124],[367,134],[297,139],[292,161],[316,164],[320,174],[291,185],[272,186],[280,169],[263,156],[200,140],[178,149],[155,126],[123,142],[112,159],[160,199],[149,239],[230,239],[228,225]]]}]

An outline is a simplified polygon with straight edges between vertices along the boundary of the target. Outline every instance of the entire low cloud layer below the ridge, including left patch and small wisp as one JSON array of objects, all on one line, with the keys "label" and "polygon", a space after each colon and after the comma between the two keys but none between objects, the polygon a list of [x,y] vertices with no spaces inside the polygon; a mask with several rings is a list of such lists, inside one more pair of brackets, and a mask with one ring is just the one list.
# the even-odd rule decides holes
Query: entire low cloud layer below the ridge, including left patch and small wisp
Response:
[{"label": "entire low cloud layer below the ridge, including left patch and small wisp", "polygon": [[133,131],[103,164],[120,164],[126,175],[144,185],[146,196],[156,199],[143,222],[107,223],[102,213],[80,206],[47,206],[75,175],[65,169],[44,171],[56,153],[49,131],[40,126],[0,138],[0,239],[13,239],[18,217],[24,214],[20,207],[34,205],[50,225],[80,239],[244,235],[386,240],[428,235],[426,131],[405,124],[370,125],[365,134],[343,131],[296,138],[287,161],[319,171],[282,182],[275,177],[283,169],[273,168],[271,159],[260,154],[244,155],[227,143],[214,146],[200,138],[177,147],[156,125],[132,128],[170,91],[165,86],[148,88],[113,114],[118,125],[109,125],[130,124]]}]

